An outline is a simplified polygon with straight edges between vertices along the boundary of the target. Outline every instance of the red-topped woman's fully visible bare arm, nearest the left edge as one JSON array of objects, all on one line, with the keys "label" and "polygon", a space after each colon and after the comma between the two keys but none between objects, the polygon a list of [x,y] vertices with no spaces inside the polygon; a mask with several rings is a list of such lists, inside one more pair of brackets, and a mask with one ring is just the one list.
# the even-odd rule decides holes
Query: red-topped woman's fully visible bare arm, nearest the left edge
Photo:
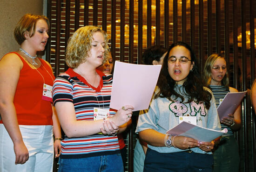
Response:
[{"label": "red-topped woman's fully visible bare arm, nearest the left edge", "polygon": [[[15,63],[13,63],[15,62]],[[7,54],[0,60],[0,114],[3,124],[13,141],[15,164],[24,164],[28,160],[17,120],[13,99],[23,63],[15,54]]]}]

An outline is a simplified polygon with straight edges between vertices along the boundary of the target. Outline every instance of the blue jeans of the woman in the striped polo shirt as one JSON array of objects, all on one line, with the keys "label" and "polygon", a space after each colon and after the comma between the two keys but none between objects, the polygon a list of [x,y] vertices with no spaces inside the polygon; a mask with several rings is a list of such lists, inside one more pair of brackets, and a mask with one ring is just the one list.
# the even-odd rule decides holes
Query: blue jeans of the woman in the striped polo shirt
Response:
[{"label": "blue jeans of the woman in the striped polo shirt", "polygon": [[121,154],[60,159],[58,172],[123,172]]}]

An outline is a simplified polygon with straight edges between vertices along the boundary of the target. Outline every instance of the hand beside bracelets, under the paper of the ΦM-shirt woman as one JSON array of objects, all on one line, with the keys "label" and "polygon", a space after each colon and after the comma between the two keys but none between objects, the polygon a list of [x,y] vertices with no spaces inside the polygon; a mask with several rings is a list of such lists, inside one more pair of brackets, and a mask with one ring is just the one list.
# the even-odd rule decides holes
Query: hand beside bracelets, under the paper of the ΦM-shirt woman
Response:
[{"label": "hand beside bracelets, under the paper of the \u03a6M-shirt woman", "polygon": [[200,146],[197,140],[185,136],[173,136],[172,145],[179,149],[190,149]]}]

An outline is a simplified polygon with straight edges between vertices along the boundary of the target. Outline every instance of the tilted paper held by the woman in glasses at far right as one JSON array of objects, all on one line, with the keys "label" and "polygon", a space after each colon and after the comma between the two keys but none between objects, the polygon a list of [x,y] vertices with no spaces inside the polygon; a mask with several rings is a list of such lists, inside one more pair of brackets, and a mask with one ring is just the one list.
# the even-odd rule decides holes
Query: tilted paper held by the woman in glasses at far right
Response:
[{"label": "tilted paper held by the woman in glasses at far right", "polygon": [[222,120],[224,117],[228,117],[229,114],[233,114],[235,112],[246,92],[247,91],[228,93],[224,97],[222,103],[217,108],[220,120]]}]

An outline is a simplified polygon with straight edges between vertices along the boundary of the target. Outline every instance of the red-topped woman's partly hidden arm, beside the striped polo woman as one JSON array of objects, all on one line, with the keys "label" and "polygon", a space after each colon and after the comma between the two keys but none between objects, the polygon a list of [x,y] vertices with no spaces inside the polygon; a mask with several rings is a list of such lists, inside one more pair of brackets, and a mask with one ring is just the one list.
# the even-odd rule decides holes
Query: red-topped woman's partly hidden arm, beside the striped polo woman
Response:
[{"label": "red-topped woman's partly hidden arm, beside the striped polo woman", "polygon": [[[54,131],[54,138],[62,138],[61,137],[61,125],[56,114],[55,107],[52,105],[53,108],[53,131]],[[61,140],[54,140],[54,153],[55,158],[61,155]]]}]

